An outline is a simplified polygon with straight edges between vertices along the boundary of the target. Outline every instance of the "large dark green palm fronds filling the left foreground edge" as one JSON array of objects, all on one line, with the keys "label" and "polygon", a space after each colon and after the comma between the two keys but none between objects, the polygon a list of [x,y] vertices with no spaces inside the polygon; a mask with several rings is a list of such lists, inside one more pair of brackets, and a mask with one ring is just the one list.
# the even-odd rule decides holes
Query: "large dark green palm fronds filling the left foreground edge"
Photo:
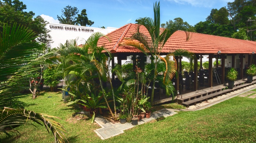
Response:
[{"label": "large dark green palm fronds filling the left foreground edge", "polygon": [[[15,128],[19,125],[31,124],[34,121],[40,125],[45,125],[47,131],[54,135],[55,142],[65,142],[65,131],[63,126],[54,121],[57,118],[51,115],[35,113],[21,109],[24,105],[19,98],[28,95],[21,94],[20,91],[29,89],[25,86],[33,76],[34,71],[40,70],[38,65],[49,62],[49,58],[31,56],[42,52],[43,46],[35,41],[36,37],[23,26],[14,24],[4,25],[0,34],[0,134],[10,136],[10,132],[19,134]],[[1,140],[0,140],[1,142]]]}]

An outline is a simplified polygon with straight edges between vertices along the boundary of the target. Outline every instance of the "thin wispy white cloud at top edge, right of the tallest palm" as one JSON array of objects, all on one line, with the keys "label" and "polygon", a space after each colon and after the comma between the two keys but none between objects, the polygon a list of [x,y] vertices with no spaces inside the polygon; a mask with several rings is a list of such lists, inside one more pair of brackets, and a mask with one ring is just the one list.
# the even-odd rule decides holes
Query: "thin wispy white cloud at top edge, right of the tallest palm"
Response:
[{"label": "thin wispy white cloud at top edge, right of the tallest palm", "polygon": [[232,0],[167,0],[179,4],[191,4],[194,7],[212,7],[219,2],[227,2]]}]

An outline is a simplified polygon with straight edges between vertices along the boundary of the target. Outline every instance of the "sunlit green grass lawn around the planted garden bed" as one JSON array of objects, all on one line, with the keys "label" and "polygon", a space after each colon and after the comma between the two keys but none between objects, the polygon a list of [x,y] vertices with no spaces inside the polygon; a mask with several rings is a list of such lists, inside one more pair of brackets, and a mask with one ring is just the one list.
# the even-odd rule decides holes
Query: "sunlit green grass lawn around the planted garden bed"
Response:
[{"label": "sunlit green grass lawn around the planted garden bed", "polygon": [[[49,96],[52,97],[47,98]],[[77,110],[67,107],[63,101],[60,101],[61,99],[61,94],[47,92],[35,100],[30,98],[22,100],[28,104],[26,107],[28,110],[62,118],[63,120],[57,121],[67,130],[66,137],[70,143],[256,142],[256,98],[234,97],[204,110],[180,111],[172,117],[136,126],[103,141],[93,131],[100,126],[91,124],[87,117],[83,120],[79,120],[78,116],[72,117]],[[17,143],[54,142],[52,134],[46,132],[44,126],[36,126],[38,128],[33,126],[17,128],[21,134]]]}]

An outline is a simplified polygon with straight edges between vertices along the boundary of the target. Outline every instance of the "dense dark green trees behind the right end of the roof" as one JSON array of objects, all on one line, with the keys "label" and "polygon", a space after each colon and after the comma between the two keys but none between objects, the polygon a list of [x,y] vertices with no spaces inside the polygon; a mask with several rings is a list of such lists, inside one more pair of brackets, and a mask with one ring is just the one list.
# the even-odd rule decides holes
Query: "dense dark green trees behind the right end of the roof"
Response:
[{"label": "dense dark green trees behind the right end of the roof", "polygon": [[255,41],[255,13],[256,0],[235,0],[228,2],[227,7],[212,9],[206,21],[201,21],[194,27],[198,33]]}]

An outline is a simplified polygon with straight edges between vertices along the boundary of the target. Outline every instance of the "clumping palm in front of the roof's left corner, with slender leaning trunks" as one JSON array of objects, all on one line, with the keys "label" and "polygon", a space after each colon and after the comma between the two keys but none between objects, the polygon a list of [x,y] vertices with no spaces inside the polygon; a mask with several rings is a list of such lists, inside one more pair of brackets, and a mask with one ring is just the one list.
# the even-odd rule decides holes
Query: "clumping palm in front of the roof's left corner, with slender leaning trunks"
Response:
[{"label": "clumping palm in front of the roof's left corner, with slender leaning trunks", "polygon": [[[67,67],[64,73],[65,75],[71,75],[71,74],[79,75],[82,78],[81,79],[82,82],[94,85],[93,91],[96,91],[99,89],[96,87],[97,81],[98,81],[104,100],[109,109],[109,112],[113,120],[116,120],[117,113],[116,113],[116,105],[115,105],[115,95],[113,92],[112,84],[111,84],[111,90],[112,90],[111,94],[113,96],[113,102],[114,102],[113,105],[114,105],[115,115],[112,113],[110,109],[110,106],[107,101],[106,91],[102,86],[102,81],[106,81],[107,78],[109,77],[107,62],[111,57],[111,53],[107,51],[104,45],[97,46],[98,41],[102,36],[104,36],[104,34],[96,32],[89,37],[89,39],[86,41],[85,45],[83,45],[82,48],[77,46],[66,48],[65,52],[63,53],[64,55],[67,55],[65,57],[66,63],[67,61],[72,61],[73,64]],[[117,67],[113,69],[112,72],[116,72],[116,74],[120,75],[119,77],[121,77],[121,74],[117,72],[118,69],[120,68]],[[94,95],[97,95],[97,94],[99,93],[94,93]]]}]

